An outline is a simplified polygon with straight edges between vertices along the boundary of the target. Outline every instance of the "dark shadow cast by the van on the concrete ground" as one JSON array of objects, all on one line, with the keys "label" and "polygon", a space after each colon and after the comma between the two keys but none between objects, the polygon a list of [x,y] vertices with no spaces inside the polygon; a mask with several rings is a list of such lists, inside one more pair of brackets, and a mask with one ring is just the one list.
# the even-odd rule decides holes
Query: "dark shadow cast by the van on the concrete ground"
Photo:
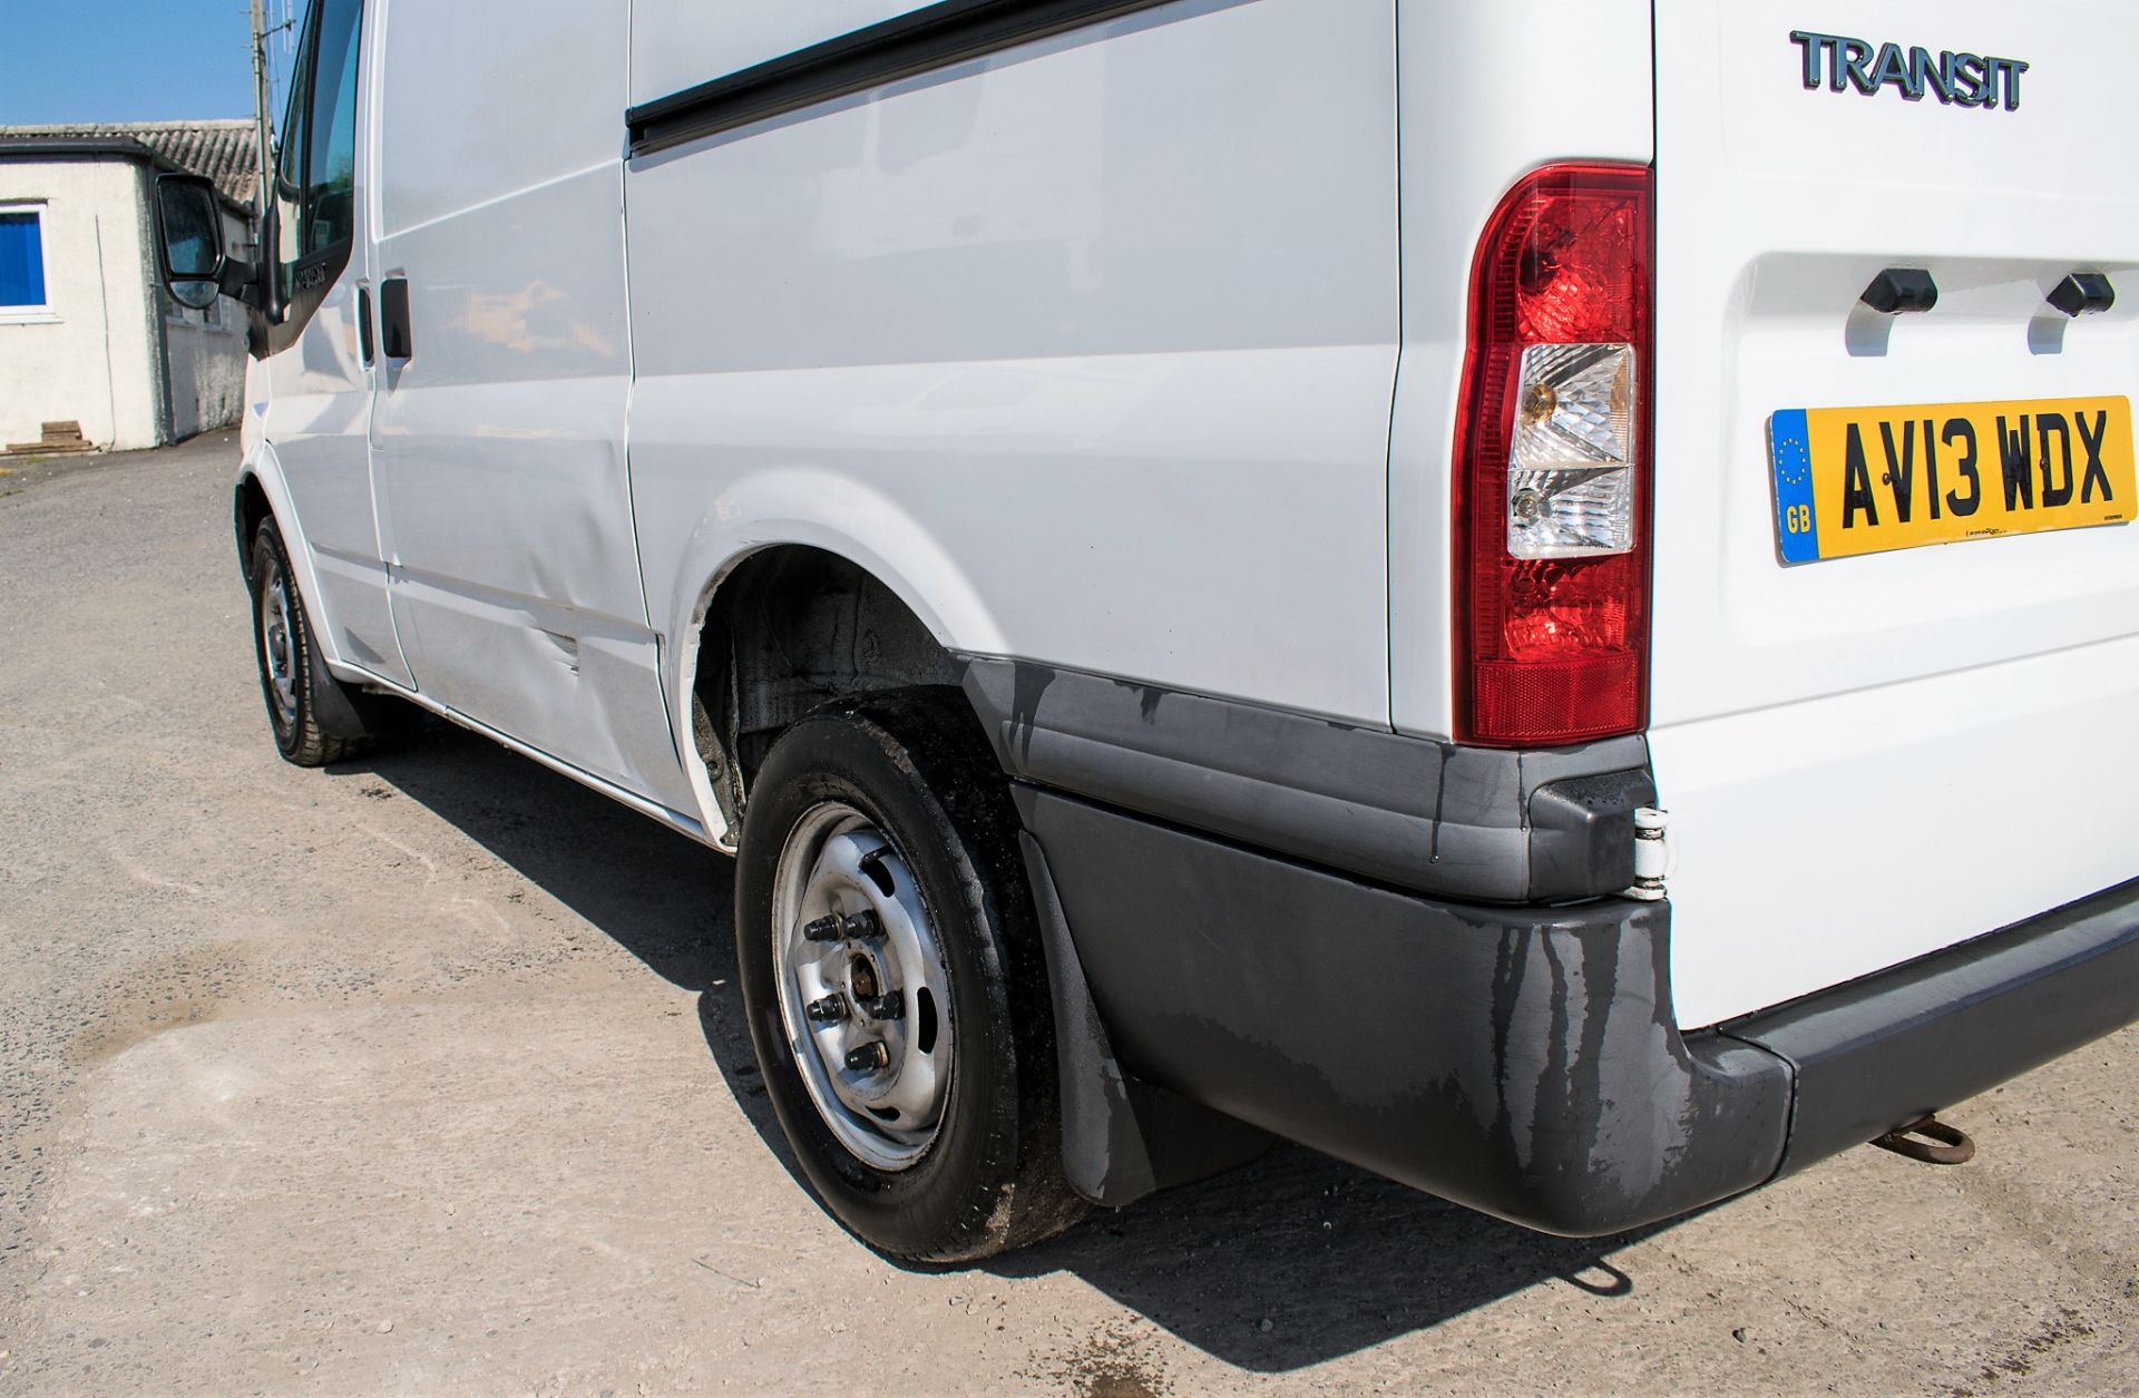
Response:
[{"label": "dark shadow cast by the van on the concrete ground", "polygon": [[[727,857],[445,727],[336,772],[385,778],[655,975],[697,992],[712,1065],[802,1189],[742,1024]],[[1634,1278],[1611,1255],[1649,1231],[1544,1238],[1288,1146],[1136,1208],[1095,1212],[988,1272],[1072,1272],[1219,1360],[1283,1372],[1555,1278],[1632,1295]]]}]

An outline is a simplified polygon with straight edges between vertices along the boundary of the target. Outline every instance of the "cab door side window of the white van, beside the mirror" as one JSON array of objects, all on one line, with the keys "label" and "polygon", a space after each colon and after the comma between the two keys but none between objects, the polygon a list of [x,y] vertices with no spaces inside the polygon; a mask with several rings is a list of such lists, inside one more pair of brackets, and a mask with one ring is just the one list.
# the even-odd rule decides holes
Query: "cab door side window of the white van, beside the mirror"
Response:
[{"label": "cab door side window of the white van, beside the mirror", "polygon": [[[357,34],[361,0],[312,0],[276,162],[282,295],[319,284],[310,265],[355,233]],[[332,259],[325,259],[332,261]],[[299,265],[306,271],[299,274]],[[329,269],[329,276],[338,269]]]}]

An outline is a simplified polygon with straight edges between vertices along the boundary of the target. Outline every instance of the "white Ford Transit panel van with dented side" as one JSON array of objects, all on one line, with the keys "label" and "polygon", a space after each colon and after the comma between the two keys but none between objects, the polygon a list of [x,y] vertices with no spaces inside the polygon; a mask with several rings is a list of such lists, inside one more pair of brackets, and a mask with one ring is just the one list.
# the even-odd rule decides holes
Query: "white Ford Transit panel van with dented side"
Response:
[{"label": "white Ford Transit panel van with dented side", "polygon": [[2139,1018],[2109,0],[312,0],[276,744],[736,855],[824,1203],[1604,1233]]}]

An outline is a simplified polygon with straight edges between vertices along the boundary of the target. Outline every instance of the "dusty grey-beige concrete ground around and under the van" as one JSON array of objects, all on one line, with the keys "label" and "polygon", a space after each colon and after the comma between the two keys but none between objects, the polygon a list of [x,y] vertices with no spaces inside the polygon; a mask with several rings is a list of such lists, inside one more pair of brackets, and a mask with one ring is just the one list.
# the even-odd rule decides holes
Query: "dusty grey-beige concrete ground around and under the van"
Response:
[{"label": "dusty grey-beige concrete ground around and under the van", "polygon": [[1555,1242],[1286,1150],[975,1270],[785,1163],[727,859],[267,737],[235,442],[0,479],[0,1394],[2139,1389],[2139,1035]]}]

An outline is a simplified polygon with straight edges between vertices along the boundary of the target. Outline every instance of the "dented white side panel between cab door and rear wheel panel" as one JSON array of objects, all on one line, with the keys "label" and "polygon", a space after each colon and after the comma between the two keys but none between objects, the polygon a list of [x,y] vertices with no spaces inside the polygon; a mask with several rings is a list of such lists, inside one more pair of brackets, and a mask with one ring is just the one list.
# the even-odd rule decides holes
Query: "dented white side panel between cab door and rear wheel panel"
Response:
[{"label": "dented white side panel between cab door and rear wheel panel", "polygon": [[689,808],[625,457],[625,0],[385,24],[376,271],[415,355],[383,361],[372,453],[417,686]]}]

